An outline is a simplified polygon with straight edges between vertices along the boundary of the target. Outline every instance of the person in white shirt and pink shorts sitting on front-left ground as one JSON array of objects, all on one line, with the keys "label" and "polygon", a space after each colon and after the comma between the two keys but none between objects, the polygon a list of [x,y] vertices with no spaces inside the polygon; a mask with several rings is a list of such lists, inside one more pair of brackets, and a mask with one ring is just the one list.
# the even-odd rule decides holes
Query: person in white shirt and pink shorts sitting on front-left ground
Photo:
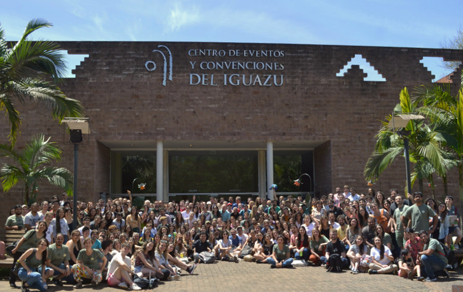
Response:
[{"label": "person in white shirt and pink shorts sitting on front-left ground", "polygon": [[[130,257],[127,254],[130,252],[130,244],[125,242],[122,244],[120,253],[117,253],[108,265],[108,274],[106,280],[109,286],[118,286],[123,289],[130,288],[134,291],[141,290],[138,285],[132,281],[132,272]],[[127,285],[128,284],[128,285]]]}]

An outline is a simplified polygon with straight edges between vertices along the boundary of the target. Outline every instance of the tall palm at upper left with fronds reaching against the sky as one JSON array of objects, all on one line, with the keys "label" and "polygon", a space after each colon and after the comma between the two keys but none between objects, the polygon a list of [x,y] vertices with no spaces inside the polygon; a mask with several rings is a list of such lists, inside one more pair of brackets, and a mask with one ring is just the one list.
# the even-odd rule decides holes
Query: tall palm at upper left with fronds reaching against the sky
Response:
[{"label": "tall palm at upper left with fronds reaching against the sky", "polygon": [[35,30],[50,26],[52,24],[43,19],[31,20],[16,44],[6,42],[5,32],[0,26],[0,110],[5,111],[11,125],[9,137],[12,145],[16,142],[21,124],[17,101],[40,101],[58,120],[66,116],[82,116],[80,102],[66,97],[56,86],[66,69],[65,56],[59,51],[58,44],[27,40]]}]

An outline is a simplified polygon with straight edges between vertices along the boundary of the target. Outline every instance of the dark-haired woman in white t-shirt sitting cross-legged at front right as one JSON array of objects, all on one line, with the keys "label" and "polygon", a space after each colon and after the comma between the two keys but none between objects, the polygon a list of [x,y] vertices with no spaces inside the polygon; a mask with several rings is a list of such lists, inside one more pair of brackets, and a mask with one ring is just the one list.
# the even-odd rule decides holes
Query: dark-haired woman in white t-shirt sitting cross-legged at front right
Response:
[{"label": "dark-haired woman in white t-shirt sitting cross-legged at front right", "polygon": [[379,236],[374,238],[375,246],[370,251],[372,263],[368,274],[389,274],[397,271],[399,267],[393,264],[394,257],[391,250],[383,244]]}]

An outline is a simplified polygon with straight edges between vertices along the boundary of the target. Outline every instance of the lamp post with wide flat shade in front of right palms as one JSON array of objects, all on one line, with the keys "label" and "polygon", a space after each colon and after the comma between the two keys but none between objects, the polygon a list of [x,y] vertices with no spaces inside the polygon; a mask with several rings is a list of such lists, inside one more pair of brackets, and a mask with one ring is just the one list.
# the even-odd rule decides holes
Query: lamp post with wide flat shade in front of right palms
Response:
[{"label": "lamp post with wide flat shade in front of right palms", "polygon": [[[392,119],[387,124],[387,128],[392,129],[395,131],[396,128],[406,128],[408,123],[411,120],[424,120],[424,116],[420,114],[414,113],[404,113],[399,114],[397,116],[392,117]],[[411,131],[402,129],[397,131],[399,137],[404,140],[404,156],[405,156],[405,173],[406,173],[406,180],[407,180],[407,193],[411,192],[411,178],[410,178],[410,152],[409,152],[409,141],[408,135],[410,135]]]}]

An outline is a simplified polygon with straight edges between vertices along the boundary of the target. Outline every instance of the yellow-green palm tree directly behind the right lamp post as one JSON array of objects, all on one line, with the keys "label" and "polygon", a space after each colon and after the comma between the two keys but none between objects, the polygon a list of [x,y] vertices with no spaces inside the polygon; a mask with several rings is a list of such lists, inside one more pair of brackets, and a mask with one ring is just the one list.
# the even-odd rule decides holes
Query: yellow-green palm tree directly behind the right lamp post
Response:
[{"label": "yellow-green palm tree directly behind the right lamp post", "polygon": [[[400,103],[393,110],[394,115],[416,111],[417,103],[412,103],[407,89],[404,88],[400,93]],[[364,176],[367,180],[377,180],[387,166],[404,151],[402,137],[397,131],[387,127],[391,119],[392,115],[386,116],[376,135],[375,149],[365,165]],[[453,160],[451,153],[441,147],[445,143],[444,135],[432,125],[427,125],[422,120],[412,120],[405,130],[408,131],[410,162],[413,163],[412,185],[418,180],[421,190],[424,179],[432,182],[433,173],[444,176],[452,167]]]}]

